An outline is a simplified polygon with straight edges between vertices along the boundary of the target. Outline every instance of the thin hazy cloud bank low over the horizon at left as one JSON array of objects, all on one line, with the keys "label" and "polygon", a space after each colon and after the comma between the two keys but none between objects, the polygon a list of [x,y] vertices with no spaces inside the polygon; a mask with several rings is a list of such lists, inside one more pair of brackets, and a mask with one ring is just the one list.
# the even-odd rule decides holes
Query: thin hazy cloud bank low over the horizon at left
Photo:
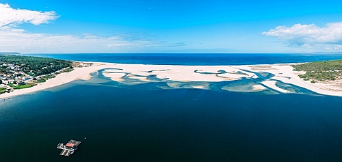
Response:
[{"label": "thin hazy cloud bank low over the horizon at left", "polygon": [[159,47],[184,46],[183,42],[168,43],[159,40],[139,40],[139,36],[100,37],[28,33],[23,29],[3,27],[0,29],[0,51],[25,51],[25,53],[125,53],[153,50]]}]

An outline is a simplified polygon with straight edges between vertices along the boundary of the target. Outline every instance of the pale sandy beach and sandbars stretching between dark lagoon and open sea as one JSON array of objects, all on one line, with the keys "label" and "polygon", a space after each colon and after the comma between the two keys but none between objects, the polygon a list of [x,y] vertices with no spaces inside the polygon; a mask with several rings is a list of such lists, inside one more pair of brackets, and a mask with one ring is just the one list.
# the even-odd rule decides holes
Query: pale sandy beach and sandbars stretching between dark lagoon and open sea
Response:
[{"label": "pale sandy beach and sandbars stretching between dark lagoon and open sea", "polygon": [[[299,74],[304,72],[293,71],[293,64],[264,64],[264,65],[243,65],[243,66],[178,66],[178,65],[146,65],[146,64],[114,64],[105,62],[86,62],[93,63],[94,66],[74,68],[71,72],[64,72],[53,79],[47,80],[34,87],[21,90],[14,90],[10,93],[0,94],[0,98],[10,98],[21,94],[29,94],[40,90],[55,87],[64,83],[69,83],[78,79],[90,79],[90,73],[97,70],[106,69],[103,72],[105,77],[113,81],[123,81],[122,77],[135,79],[138,81],[179,81],[179,82],[220,82],[235,81],[242,78],[257,78],[253,72],[268,72],[274,75],[267,81],[261,82],[254,90],[269,88],[280,93],[289,91],[276,86],[276,81],[290,83],[299,87],[304,87],[318,94],[330,96],[342,96],[342,87],[326,83],[310,83],[304,81]],[[154,80],[148,77],[154,77]],[[205,89],[205,86],[196,85],[193,88]]]}]

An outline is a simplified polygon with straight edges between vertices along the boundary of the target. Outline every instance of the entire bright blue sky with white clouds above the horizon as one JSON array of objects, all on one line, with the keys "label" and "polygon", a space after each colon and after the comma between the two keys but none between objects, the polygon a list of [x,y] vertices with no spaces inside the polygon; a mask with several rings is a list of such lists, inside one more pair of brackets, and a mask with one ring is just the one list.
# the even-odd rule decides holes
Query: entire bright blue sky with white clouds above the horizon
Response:
[{"label": "entire bright blue sky with white clouds above the horizon", "polygon": [[342,1],[0,0],[0,51],[339,53]]}]

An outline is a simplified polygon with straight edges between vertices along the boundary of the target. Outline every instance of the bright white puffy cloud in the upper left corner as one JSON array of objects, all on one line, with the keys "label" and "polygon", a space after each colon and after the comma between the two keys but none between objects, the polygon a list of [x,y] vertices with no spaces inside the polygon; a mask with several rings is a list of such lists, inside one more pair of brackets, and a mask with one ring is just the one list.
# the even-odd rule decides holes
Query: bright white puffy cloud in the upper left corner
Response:
[{"label": "bright white puffy cloud in the upper left corner", "polygon": [[58,18],[57,14],[51,12],[38,12],[11,8],[8,4],[0,3],[0,28],[6,25],[17,25],[21,23],[31,23],[40,25],[49,23]]}]

